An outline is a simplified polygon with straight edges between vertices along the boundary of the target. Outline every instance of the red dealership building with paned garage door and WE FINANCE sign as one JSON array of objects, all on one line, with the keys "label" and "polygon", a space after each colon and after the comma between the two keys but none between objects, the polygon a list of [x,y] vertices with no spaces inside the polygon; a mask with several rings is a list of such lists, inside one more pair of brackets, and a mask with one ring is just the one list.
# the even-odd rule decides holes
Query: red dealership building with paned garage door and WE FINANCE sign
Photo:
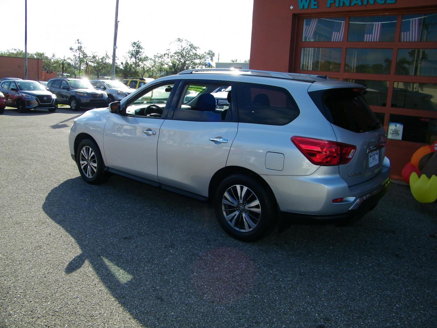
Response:
[{"label": "red dealership building with paned garage door and WE FINANCE sign", "polygon": [[436,0],[254,0],[250,68],[365,85],[393,178],[437,140]]}]

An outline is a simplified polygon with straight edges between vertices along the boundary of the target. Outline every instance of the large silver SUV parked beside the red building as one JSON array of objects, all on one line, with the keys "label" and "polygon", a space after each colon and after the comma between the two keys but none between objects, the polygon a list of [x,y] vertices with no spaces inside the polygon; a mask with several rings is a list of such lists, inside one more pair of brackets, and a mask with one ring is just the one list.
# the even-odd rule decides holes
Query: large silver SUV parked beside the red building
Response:
[{"label": "large silver SUV parked beside the red building", "polygon": [[[211,94],[220,86],[227,104]],[[357,216],[387,191],[385,131],[363,92],[313,75],[187,70],[84,113],[69,147],[88,183],[109,171],[211,199],[228,234],[254,241],[280,211]]]}]

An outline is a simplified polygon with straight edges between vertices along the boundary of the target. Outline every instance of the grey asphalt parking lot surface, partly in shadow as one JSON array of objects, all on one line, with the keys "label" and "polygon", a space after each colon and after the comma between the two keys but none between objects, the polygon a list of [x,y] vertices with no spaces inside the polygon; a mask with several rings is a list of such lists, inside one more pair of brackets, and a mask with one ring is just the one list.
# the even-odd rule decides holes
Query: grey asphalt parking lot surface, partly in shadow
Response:
[{"label": "grey asphalt parking lot surface, partly in shadow", "polygon": [[0,115],[0,328],[435,327],[437,202],[392,184],[358,222],[243,243],[207,203],[86,184],[68,148],[81,113]]}]

